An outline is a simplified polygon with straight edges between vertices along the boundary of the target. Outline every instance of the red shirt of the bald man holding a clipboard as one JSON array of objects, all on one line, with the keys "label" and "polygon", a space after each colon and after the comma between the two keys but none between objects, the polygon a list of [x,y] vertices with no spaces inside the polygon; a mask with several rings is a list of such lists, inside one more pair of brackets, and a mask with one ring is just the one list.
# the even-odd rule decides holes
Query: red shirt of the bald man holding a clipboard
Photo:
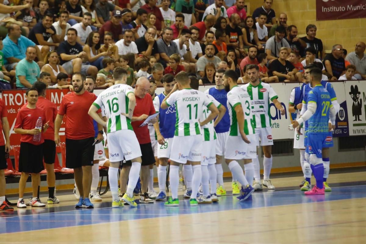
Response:
[{"label": "red shirt of the bald man holding a clipboard", "polygon": [[[138,96],[136,96],[136,106],[133,114],[134,117],[138,117],[143,114],[153,115],[154,113],[155,109],[153,99],[151,98],[151,95],[149,93],[147,93],[144,98],[139,98]],[[145,120],[131,122],[132,128],[134,129],[139,144],[146,144],[151,142],[149,128],[147,127],[147,125],[139,127],[143,123],[143,121]]]}]

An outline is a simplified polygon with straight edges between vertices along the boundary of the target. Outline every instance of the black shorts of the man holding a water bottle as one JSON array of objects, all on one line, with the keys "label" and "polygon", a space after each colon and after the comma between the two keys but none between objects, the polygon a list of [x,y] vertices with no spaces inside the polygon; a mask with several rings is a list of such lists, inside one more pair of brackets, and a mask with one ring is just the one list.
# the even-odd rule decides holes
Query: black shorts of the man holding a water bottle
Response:
[{"label": "black shorts of the man holding a water bottle", "polygon": [[20,142],[19,172],[40,173],[43,168],[43,144]]}]

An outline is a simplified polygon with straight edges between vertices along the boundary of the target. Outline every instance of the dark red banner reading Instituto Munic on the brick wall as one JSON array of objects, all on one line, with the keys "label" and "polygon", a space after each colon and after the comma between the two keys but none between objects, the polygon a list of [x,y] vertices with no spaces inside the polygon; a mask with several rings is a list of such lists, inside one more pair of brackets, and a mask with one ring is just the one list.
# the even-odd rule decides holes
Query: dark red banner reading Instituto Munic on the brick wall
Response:
[{"label": "dark red banner reading Instituto Munic on the brick wall", "polygon": [[317,20],[366,18],[365,0],[316,0]]}]

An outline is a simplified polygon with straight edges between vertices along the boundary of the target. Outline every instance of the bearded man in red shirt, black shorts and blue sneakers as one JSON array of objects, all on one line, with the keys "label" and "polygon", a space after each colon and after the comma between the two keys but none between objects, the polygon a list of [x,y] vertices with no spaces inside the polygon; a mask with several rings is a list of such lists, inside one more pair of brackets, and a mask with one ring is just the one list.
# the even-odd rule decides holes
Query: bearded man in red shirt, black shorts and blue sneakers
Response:
[{"label": "bearded man in red shirt, black shorts and blue sneakers", "polygon": [[[66,94],[61,101],[59,112],[55,120],[55,143],[60,143],[60,126],[66,115],[66,167],[74,169],[75,183],[80,193],[80,199],[76,208],[85,205],[93,208],[89,200],[91,187],[91,167],[94,160],[94,126],[93,119],[88,115],[91,104],[97,99],[94,93],[84,89],[85,75],[76,72],[72,75],[74,91]],[[101,110],[98,110],[101,116]],[[103,127],[98,124],[98,131]],[[97,140],[103,136],[98,133]]]}]

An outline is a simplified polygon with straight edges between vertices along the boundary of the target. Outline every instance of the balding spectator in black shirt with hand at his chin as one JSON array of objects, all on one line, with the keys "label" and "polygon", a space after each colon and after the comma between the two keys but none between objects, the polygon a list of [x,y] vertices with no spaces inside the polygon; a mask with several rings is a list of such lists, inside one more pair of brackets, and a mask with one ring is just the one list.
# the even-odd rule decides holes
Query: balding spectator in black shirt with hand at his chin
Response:
[{"label": "balding spectator in black shirt with hand at his chin", "polygon": [[146,57],[154,56],[156,60],[160,59],[160,54],[158,51],[158,45],[154,39],[156,35],[156,30],[154,28],[148,28],[145,35],[136,40],[137,50],[139,54]]}]

